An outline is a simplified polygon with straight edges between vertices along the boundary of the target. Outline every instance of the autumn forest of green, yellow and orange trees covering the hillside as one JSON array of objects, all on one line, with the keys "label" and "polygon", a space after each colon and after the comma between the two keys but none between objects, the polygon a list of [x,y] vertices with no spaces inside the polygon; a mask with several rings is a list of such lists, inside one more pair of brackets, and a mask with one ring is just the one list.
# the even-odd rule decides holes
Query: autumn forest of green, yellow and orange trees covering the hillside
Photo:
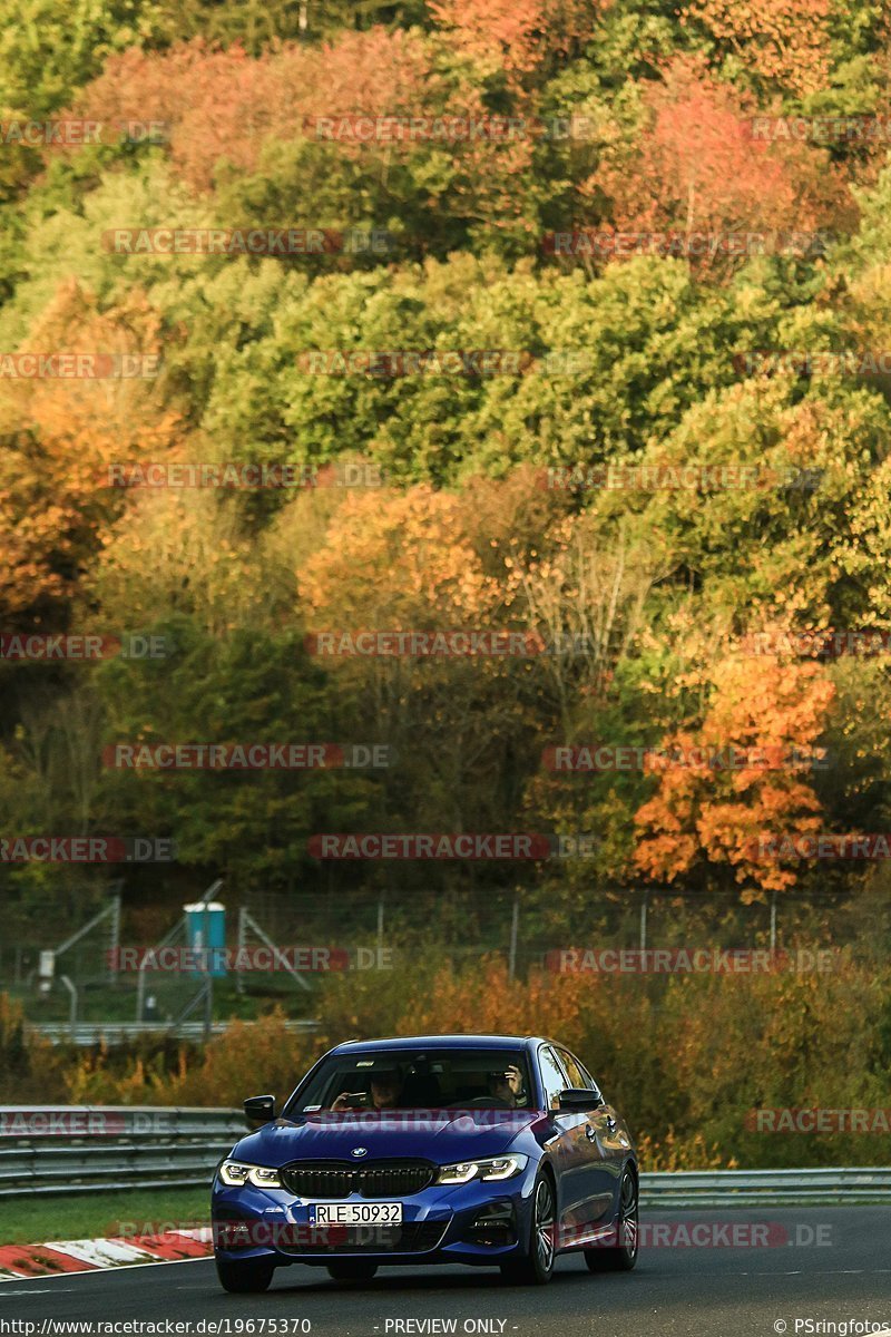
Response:
[{"label": "autumn forest of green, yellow and orange trees covering the hillside", "polygon": [[[4,829],[172,841],[128,888],[175,904],[521,888],[564,940],[641,888],[882,898],[887,11],[28,13],[0,36]],[[389,632],[450,648],[349,639]],[[443,832],[550,844],[319,845]],[[0,884],[33,927],[112,874]]]}]

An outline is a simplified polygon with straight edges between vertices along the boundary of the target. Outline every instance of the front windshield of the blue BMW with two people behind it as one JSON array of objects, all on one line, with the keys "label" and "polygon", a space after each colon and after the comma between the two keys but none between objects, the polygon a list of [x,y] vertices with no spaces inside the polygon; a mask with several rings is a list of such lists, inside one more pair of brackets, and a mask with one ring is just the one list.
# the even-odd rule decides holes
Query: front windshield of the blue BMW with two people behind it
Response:
[{"label": "front windshield of the blue BMW with two people behind it", "polygon": [[529,1107],[521,1050],[373,1050],[331,1055],[286,1114]]}]

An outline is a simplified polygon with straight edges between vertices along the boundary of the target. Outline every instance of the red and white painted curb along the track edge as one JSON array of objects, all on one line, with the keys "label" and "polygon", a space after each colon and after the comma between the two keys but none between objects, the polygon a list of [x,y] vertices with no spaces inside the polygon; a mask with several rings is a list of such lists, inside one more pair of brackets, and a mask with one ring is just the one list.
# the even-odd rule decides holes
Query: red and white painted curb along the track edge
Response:
[{"label": "red and white painted curb along the track edge", "polygon": [[45,1245],[0,1245],[0,1281],[52,1277],[64,1271],[100,1271],[140,1262],[208,1258],[214,1251],[210,1226],[167,1230],[159,1235],[119,1235],[111,1239],[53,1239]]}]

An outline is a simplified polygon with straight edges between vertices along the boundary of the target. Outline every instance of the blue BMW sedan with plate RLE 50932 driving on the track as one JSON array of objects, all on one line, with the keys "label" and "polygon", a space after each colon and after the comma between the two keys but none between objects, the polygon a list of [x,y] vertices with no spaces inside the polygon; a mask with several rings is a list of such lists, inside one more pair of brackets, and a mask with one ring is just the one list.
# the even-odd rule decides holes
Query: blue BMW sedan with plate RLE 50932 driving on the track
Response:
[{"label": "blue BMW sedan with plate RLE 50932 driving on the track", "polygon": [[277,1267],[363,1281],[383,1265],[460,1262],[542,1285],[560,1253],[590,1271],[637,1261],[628,1126],[553,1040],[425,1035],[330,1050],[277,1116],[218,1167],[214,1253],[230,1292]]}]

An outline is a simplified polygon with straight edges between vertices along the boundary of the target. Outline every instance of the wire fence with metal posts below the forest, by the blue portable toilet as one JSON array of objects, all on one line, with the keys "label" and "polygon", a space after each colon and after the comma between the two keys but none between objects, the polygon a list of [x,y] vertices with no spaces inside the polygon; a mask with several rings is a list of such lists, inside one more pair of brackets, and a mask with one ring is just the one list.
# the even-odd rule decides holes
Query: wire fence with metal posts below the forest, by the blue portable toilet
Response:
[{"label": "wire fence with metal posts below the forest, by the blue portable toilet", "polygon": [[421,956],[460,968],[493,953],[522,980],[532,969],[556,977],[747,971],[779,959],[820,969],[843,944],[858,956],[880,951],[875,936],[858,939],[850,897],[832,892],[751,905],[732,893],[574,894],[554,901],[528,890],[267,892],[231,904],[215,882],[196,897],[218,916],[215,939],[190,928],[183,905],[171,906],[166,931],[146,941],[118,884],[76,925],[39,916],[7,939],[0,989],[23,1001],[32,1024],[55,1027],[53,1038],[63,1024],[103,1021],[159,1029],[203,1023],[210,1031],[214,1019],[251,1017],[275,1001],[293,1017],[311,1019],[330,972],[403,971]]}]

